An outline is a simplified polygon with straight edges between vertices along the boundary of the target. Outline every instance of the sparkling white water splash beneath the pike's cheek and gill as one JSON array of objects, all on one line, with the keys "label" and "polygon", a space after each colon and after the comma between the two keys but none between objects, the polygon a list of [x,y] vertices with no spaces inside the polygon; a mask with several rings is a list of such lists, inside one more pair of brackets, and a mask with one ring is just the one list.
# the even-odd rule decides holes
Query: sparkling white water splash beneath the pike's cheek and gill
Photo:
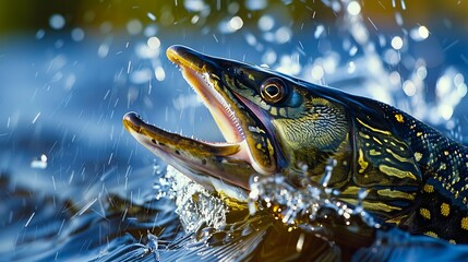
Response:
[{"label": "sparkling white water splash beneath the pike's cheek and gill", "polygon": [[[319,233],[329,240],[336,240],[336,234],[333,227],[329,227],[331,224],[356,233],[364,228],[371,230],[381,228],[381,224],[362,207],[362,200],[367,196],[365,190],[359,191],[358,205],[352,206],[337,199],[339,191],[327,188],[335,165],[336,160],[331,159],[321,182],[313,183],[308,180],[304,187],[293,184],[280,174],[271,177],[252,177],[249,194],[251,215],[259,209],[267,209],[285,225],[299,227],[309,233]],[[304,170],[307,172],[307,167]]]}]

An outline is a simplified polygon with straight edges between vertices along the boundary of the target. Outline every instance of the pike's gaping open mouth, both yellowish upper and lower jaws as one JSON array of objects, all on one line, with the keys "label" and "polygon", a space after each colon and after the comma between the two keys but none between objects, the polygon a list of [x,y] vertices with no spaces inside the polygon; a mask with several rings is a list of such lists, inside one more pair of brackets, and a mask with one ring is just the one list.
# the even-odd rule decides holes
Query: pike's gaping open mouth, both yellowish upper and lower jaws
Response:
[{"label": "pike's gaping open mouth, both yellowish upper and lower jaws", "polygon": [[226,191],[226,184],[248,190],[251,175],[272,174],[276,160],[267,129],[255,109],[249,110],[253,105],[245,105],[225,85],[217,59],[181,46],[170,47],[167,56],[201,96],[226,142],[170,133],[146,123],[135,112],[123,117],[127,130],[165,162],[217,191]]}]

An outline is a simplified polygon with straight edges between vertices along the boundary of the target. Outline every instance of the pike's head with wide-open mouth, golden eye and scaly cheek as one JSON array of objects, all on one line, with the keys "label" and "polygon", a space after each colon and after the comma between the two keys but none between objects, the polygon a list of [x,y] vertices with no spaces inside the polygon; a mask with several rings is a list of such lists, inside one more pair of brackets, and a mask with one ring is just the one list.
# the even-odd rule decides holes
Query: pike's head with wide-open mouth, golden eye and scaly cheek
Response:
[{"label": "pike's head with wide-open mouth, golden eye and scaly cheek", "polygon": [[323,174],[324,154],[346,147],[346,110],[311,92],[310,83],[182,46],[170,47],[167,56],[202,98],[226,142],[170,133],[134,112],[124,116],[123,124],[153,153],[205,187],[249,190],[254,174],[288,172],[303,165]]}]

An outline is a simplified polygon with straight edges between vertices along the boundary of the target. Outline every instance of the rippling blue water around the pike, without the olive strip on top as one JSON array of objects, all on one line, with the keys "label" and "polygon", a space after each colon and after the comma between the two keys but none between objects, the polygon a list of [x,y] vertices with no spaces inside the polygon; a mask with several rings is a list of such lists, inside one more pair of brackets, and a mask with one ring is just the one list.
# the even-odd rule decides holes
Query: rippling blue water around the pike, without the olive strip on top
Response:
[{"label": "rippling blue water around the pike, without the olive strip on top", "polygon": [[[277,27],[279,23],[286,22],[277,22]],[[22,33],[4,37],[0,41],[0,260],[172,261],[179,258],[188,261],[218,260],[235,253],[239,255],[237,259],[272,260],[279,257],[268,257],[265,250],[278,236],[290,236],[295,240],[281,253],[296,254],[296,240],[301,235],[281,231],[286,229],[278,229],[280,226],[265,214],[257,214],[260,218],[245,223],[230,222],[229,228],[187,234],[175,213],[173,200],[156,198],[159,191],[155,184],[164,175],[165,164],[124,131],[121,118],[127,111],[137,111],[149,122],[183,134],[223,140],[207,110],[196,102],[178,69],[165,58],[165,49],[172,44],[255,64],[273,61],[265,57],[273,50],[276,59],[269,64],[272,68],[289,67],[292,73],[305,79],[313,74],[316,58],[335,61],[334,73],[317,82],[388,99],[407,111],[420,114],[419,118],[466,143],[468,99],[465,96],[451,104],[454,111],[448,119],[434,119],[428,116],[429,111],[425,115],[417,111],[418,107],[433,108],[439,105],[437,99],[443,100],[437,98],[435,86],[441,75],[454,76],[446,69],[454,68],[467,75],[464,58],[468,53],[464,47],[468,37],[461,34],[466,32],[447,31],[441,22],[431,27],[428,40],[400,51],[403,58],[408,53],[428,58],[425,96],[415,106],[411,103],[418,95],[407,96],[401,85],[383,87],[375,93],[373,84],[380,83],[379,75],[375,80],[375,75],[369,75],[365,70],[347,73],[349,61],[356,61],[359,69],[369,59],[362,51],[364,48],[357,45],[359,50],[352,59],[349,49],[341,47],[343,35],[332,29],[328,35],[317,37],[314,35],[317,24],[321,23],[305,23],[292,31],[291,39],[284,44],[262,40],[264,31],[247,25],[235,34],[216,31],[203,34],[193,27],[159,28],[160,47],[156,50],[147,49],[148,37],[125,31],[112,32],[110,38],[99,31],[86,31],[80,41],[72,39],[68,31],[52,29],[46,29],[44,36]],[[377,43],[376,33],[369,28],[373,37],[370,41]],[[389,40],[395,32],[379,34],[387,34]],[[255,36],[256,44],[251,36]],[[385,50],[387,48],[376,48],[382,60]],[[281,60],[283,56],[291,59]],[[336,56],[338,60],[334,60]],[[411,70],[404,63],[401,59],[400,64],[385,64],[384,69],[396,70],[401,79],[410,79]],[[301,64],[298,72],[295,64]],[[158,75],[155,74],[157,68]],[[255,230],[256,234],[250,234]],[[203,235],[205,231],[209,233],[208,237]],[[231,237],[226,240],[223,234]],[[197,238],[202,241],[196,241]],[[329,257],[309,250],[295,259],[456,260],[466,258],[468,250],[466,246],[410,237],[398,230],[377,231],[372,247],[359,251],[346,247],[340,250],[339,246],[313,236],[305,238],[317,253],[322,250]],[[239,250],[247,254],[240,255]],[[259,250],[265,253],[259,254]]]}]

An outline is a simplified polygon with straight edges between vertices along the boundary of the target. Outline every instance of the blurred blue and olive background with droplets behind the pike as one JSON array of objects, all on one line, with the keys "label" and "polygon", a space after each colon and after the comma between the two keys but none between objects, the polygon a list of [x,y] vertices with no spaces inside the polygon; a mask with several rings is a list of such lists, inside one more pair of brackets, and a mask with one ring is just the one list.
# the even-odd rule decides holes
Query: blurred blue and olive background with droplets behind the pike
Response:
[{"label": "blurred blue and olive background with droplets behind the pike", "polygon": [[79,255],[72,241],[124,234],[62,229],[106,217],[109,195],[154,193],[159,160],[123,130],[127,111],[223,140],[166,59],[173,44],[389,103],[467,143],[467,13],[461,0],[0,1],[0,253]]}]

